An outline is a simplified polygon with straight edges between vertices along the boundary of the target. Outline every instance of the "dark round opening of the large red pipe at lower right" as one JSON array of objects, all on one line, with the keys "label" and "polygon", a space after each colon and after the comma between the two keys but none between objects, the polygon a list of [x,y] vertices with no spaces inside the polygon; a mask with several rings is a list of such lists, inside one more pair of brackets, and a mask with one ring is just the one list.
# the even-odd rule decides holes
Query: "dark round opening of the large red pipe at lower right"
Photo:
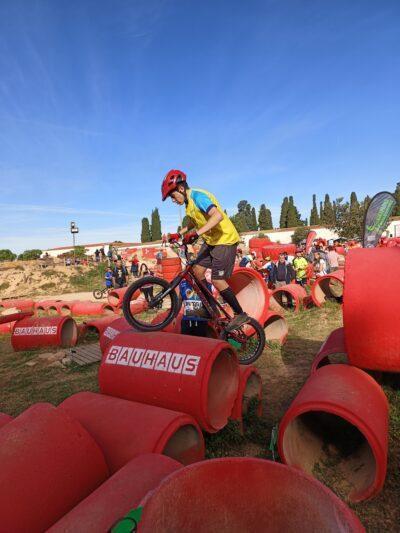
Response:
[{"label": "dark round opening of the large red pipe at lower right", "polygon": [[283,450],[289,464],[322,476],[324,483],[352,501],[368,491],[376,477],[376,460],[365,436],[326,411],[308,411],[293,419],[285,430]]}]

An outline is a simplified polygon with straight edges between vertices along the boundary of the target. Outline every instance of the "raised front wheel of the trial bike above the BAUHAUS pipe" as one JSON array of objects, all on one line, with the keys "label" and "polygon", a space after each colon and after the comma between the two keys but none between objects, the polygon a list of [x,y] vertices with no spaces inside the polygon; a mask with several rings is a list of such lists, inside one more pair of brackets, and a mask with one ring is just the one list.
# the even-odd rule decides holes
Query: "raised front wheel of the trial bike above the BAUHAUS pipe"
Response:
[{"label": "raised front wheel of the trial bike above the BAUHAUS pipe", "polygon": [[139,331],[161,331],[168,326],[181,306],[175,290],[168,289],[171,289],[168,281],[153,276],[132,283],[122,303],[127,322]]}]

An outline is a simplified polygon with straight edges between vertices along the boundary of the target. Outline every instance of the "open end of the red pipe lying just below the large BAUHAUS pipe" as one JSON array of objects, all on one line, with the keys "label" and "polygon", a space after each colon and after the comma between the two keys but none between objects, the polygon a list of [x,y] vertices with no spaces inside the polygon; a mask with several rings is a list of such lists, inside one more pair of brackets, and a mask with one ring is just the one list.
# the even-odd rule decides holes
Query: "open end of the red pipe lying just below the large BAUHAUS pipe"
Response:
[{"label": "open end of the red pipe lying just below the large BAUHAUS pipe", "polygon": [[203,441],[199,430],[191,424],[185,424],[168,439],[162,453],[188,465],[198,461],[202,449]]}]

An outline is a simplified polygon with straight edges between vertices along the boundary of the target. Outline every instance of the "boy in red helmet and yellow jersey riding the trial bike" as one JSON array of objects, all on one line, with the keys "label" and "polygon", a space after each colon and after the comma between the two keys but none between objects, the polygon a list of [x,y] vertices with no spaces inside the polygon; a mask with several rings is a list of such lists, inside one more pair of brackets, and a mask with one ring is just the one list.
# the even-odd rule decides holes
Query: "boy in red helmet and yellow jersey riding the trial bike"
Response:
[{"label": "boy in red helmet and yellow jersey riding the trial bike", "polygon": [[189,188],[186,174],[180,170],[168,172],[161,185],[161,194],[163,201],[171,197],[175,204],[185,205],[190,221],[180,233],[170,235],[170,240],[178,240],[183,236],[184,244],[192,244],[202,237],[204,244],[194,266],[194,273],[205,285],[206,270],[211,268],[212,283],[235,315],[227,330],[242,326],[249,317],[227,283],[233,272],[236,249],[240,242],[235,226],[215,196],[203,189]]}]

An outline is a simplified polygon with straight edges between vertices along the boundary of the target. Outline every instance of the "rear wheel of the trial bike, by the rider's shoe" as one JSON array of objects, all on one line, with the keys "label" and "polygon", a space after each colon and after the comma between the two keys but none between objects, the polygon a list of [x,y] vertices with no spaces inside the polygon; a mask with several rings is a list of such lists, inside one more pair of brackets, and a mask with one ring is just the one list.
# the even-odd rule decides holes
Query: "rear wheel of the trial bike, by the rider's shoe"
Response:
[{"label": "rear wheel of the trial bike, by the rider's shoe", "polygon": [[254,318],[233,331],[223,330],[220,337],[236,349],[241,365],[251,365],[257,361],[265,348],[264,328]]}]

